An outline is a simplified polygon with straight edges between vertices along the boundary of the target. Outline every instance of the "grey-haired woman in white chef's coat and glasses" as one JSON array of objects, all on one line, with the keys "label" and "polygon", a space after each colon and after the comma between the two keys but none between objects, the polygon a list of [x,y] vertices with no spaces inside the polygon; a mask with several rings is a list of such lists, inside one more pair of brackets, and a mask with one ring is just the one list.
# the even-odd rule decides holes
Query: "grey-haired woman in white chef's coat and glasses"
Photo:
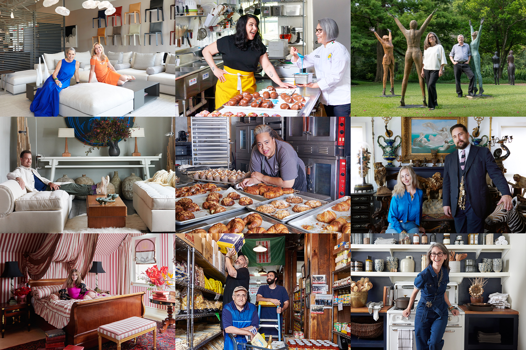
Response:
[{"label": "grey-haired woman in white chef's coat and glasses", "polygon": [[298,56],[298,49],[292,46],[290,60],[303,68],[314,66],[317,82],[303,84],[309,88],[320,88],[320,102],[323,103],[327,116],[349,116],[351,113],[351,56],[347,48],[336,38],[339,35],[338,24],[331,18],[318,20],[316,26],[318,43],[322,46],[305,55],[303,62]]}]

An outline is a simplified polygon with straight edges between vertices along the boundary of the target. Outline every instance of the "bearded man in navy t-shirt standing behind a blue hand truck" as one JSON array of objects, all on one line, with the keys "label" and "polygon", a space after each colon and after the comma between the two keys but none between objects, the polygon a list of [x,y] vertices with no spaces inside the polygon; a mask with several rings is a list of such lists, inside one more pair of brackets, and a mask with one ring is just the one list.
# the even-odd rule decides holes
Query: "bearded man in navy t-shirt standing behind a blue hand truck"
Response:
[{"label": "bearded man in navy t-shirt standing behind a blue hand truck", "polygon": [[[256,294],[256,301],[268,301],[275,304],[277,307],[261,305],[261,311],[259,314],[260,324],[275,325],[276,322],[261,320],[277,320],[277,314],[280,314],[279,327],[281,328],[283,324],[283,312],[289,307],[289,295],[287,294],[285,287],[277,285],[278,277],[276,271],[267,272],[267,283],[268,285],[262,285],[259,287]],[[278,335],[278,330],[276,327],[261,327],[260,333],[265,333],[265,335]]]}]

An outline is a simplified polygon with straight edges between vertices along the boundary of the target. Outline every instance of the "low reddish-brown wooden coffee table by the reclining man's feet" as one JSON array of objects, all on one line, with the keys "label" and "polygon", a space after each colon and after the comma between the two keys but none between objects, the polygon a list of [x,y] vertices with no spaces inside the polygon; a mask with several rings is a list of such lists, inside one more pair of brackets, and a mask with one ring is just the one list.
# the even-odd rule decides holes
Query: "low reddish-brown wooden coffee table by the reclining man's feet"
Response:
[{"label": "low reddish-brown wooden coffee table by the reclining man's feet", "polygon": [[128,208],[120,197],[115,198],[115,202],[100,205],[95,200],[104,195],[86,196],[86,212],[88,215],[89,228],[104,227],[126,227],[126,217]]}]

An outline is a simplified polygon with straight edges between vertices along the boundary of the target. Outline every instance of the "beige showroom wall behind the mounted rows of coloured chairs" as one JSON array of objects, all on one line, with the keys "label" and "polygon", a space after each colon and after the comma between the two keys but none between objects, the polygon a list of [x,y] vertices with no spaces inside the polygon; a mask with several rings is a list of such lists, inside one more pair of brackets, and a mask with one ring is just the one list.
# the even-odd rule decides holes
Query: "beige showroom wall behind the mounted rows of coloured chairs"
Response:
[{"label": "beige showroom wall behind the mounted rows of coloured chairs", "polygon": [[[111,2],[114,7],[123,6],[122,9],[122,15],[123,15],[123,27],[122,27],[122,33],[123,33],[123,43],[124,43],[124,34],[129,33],[129,17],[130,15],[126,15],[126,25],[124,24],[124,13],[129,12],[129,5],[137,3],[137,0],[116,0]],[[73,26],[76,25],[78,28],[78,46],[75,47],[75,49],[79,52],[84,52],[92,49],[92,37],[97,35],[97,26],[98,26],[98,20],[93,20],[92,25],[92,18],[97,17],[99,8],[83,8],[82,1],[78,0],[77,2],[73,3],[71,1],[66,1],[65,7],[70,10],[69,16],[66,17],[66,26]],[[164,45],[161,45],[161,38],[160,35],[157,35],[157,39],[159,41],[159,46],[155,45],[155,36],[151,35],[151,45],[148,44],[148,35],[146,36],[146,46],[144,45],[144,33],[148,33],[150,30],[150,20],[149,20],[149,12],[147,13],[147,21],[144,20],[144,10],[146,8],[150,7],[149,0],[142,1],[141,2],[141,13],[140,13],[140,43],[139,45],[139,39],[137,36],[135,36],[137,45],[133,45],[133,37],[131,37],[131,46],[129,46],[129,38],[126,37],[126,45],[122,46],[120,45],[120,39],[117,38],[115,40],[115,46],[112,45],[112,40],[107,40],[107,45],[104,45],[104,39],[101,38],[102,44],[104,45],[104,51],[112,51],[112,52],[140,52],[141,54],[150,54],[154,52],[170,52],[175,53],[175,46],[169,45],[170,43],[170,30],[174,30],[174,23],[175,19],[170,19],[170,4],[173,5],[174,2],[170,0],[164,0],[163,3],[163,9],[164,9],[164,17],[165,20],[163,22],[163,40]],[[62,6],[62,2],[58,2],[57,4],[50,6],[50,7],[41,7],[37,9],[37,12],[46,12],[46,13],[55,13],[55,8],[57,6]],[[106,8],[104,8],[106,10]],[[137,24],[139,23],[139,16],[137,16]],[[112,29],[112,18],[110,17],[107,21],[107,27],[106,27],[106,36],[112,35],[113,29]],[[120,19],[117,18],[117,23],[115,25],[120,25]],[[174,17],[172,17],[174,18]],[[159,22],[162,20],[161,12],[159,11]],[[153,23],[157,22],[157,11],[151,12],[151,21]],[[131,24],[135,24],[133,20],[133,15],[131,16]],[[101,27],[104,27],[104,20],[101,20],[100,23]],[[94,28],[92,28],[94,26]],[[94,39],[96,41],[96,38]],[[52,52],[55,53],[55,52]]]}]

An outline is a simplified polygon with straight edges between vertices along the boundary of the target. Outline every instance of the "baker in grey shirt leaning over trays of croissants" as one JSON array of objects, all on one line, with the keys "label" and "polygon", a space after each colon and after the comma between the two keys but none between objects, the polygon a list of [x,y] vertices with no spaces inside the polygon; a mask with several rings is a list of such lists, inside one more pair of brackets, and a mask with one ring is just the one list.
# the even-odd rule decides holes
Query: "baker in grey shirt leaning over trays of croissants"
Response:
[{"label": "baker in grey shirt leaning over trays of croissants", "polygon": [[254,129],[256,138],[250,155],[250,177],[239,184],[270,184],[307,191],[305,163],[292,146],[283,141],[275,130],[263,124]]}]

